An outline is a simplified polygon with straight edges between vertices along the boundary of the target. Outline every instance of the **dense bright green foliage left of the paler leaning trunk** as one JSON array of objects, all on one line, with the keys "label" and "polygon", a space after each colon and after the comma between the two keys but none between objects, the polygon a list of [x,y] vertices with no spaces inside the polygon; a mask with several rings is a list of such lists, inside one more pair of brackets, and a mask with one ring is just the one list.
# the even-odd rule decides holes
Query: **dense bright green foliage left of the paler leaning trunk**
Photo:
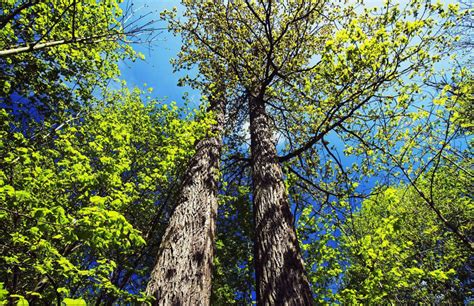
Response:
[{"label": "dense bright green foliage left of the paler leaning trunk", "polygon": [[2,110],[1,260],[11,294],[132,299],[138,292],[123,290],[130,279],[114,274],[138,278],[149,268],[133,257],[160,231],[169,180],[212,122],[145,104],[138,90],[97,103],[43,142],[13,131]]}]

